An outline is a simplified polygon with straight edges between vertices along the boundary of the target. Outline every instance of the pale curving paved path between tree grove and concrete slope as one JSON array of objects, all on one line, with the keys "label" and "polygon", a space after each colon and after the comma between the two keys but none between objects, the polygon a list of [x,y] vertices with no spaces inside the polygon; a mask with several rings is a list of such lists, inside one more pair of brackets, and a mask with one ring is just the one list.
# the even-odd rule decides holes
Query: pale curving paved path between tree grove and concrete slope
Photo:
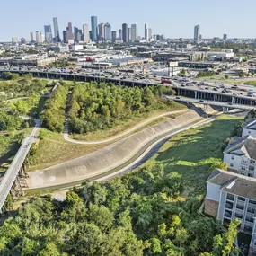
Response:
[{"label": "pale curving paved path between tree grove and concrete slope", "polygon": [[151,123],[153,122],[154,120],[156,119],[160,119],[160,118],[163,118],[163,117],[166,117],[166,116],[169,116],[169,115],[172,115],[172,114],[178,114],[178,113],[183,113],[183,112],[187,112],[189,110],[176,110],[176,111],[171,111],[171,112],[166,112],[166,113],[163,113],[163,114],[160,114],[154,118],[151,118],[151,119],[146,119],[145,121],[137,124],[136,126],[134,126],[133,128],[128,128],[127,130],[125,130],[124,132],[122,133],[119,133],[118,135],[114,136],[114,137],[109,137],[109,138],[106,138],[106,139],[102,139],[102,140],[95,140],[95,141],[80,141],[80,140],[77,140],[77,139],[74,139],[74,138],[70,138],[68,137],[68,118],[66,118],[66,121],[65,121],[65,129],[64,129],[64,139],[68,142],[72,142],[72,143],[76,143],[76,144],[84,144],[84,145],[95,145],[95,144],[103,144],[103,143],[108,143],[108,142],[111,142],[113,140],[116,140],[120,137],[125,137],[126,135],[130,134],[131,132],[137,130],[138,128],[142,128],[144,126],[146,126],[146,124],[148,123]]}]

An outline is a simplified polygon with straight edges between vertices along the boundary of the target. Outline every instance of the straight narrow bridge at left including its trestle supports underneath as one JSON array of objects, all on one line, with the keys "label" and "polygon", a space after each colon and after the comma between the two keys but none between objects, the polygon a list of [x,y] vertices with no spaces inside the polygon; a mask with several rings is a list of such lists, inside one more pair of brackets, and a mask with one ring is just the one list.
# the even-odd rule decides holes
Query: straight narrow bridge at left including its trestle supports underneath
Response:
[{"label": "straight narrow bridge at left including its trestle supports underneath", "polygon": [[30,151],[31,145],[35,141],[35,134],[38,128],[40,128],[40,121],[35,120],[35,123],[35,128],[32,129],[29,137],[23,139],[22,145],[13,158],[13,162],[10,164],[10,167],[0,181],[0,213],[2,212],[4,201],[10,192],[13,193],[14,196],[22,193],[21,178],[24,175],[22,165]]}]

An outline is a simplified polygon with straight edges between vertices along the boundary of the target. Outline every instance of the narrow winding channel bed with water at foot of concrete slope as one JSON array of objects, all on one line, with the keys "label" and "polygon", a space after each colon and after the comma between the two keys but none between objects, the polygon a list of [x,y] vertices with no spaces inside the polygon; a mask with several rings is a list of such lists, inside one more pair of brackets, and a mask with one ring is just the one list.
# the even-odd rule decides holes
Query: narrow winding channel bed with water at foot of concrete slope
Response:
[{"label": "narrow winding channel bed with water at foot of concrete slope", "polygon": [[197,128],[199,126],[203,126],[209,122],[212,122],[216,119],[216,117],[212,117],[210,119],[199,119],[194,122],[191,122],[181,128],[176,128],[172,131],[166,132],[163,135],[159,137],[155,137],[153,140],[148,142],[145,146],[143,146],[137,154],[135,154],[133,157],[131,157],[126,163],[123,163],[119,165],[116,168],[111,169],[108,172],[104,172],[102,174],[95,175],[91,178],[80,180],[80,181],[73,181],[66,184],[60,184],[60,185],[53,185],[49,187],[43,187],[43,188],[35,188],[35,189],[26,189],[25,191],[27,193],[32,192],[44,192],[44,191],[52,191],[52,190],[67,190],[74,186],[79,186],[83,181],[89,180],[89,181],[109,181],[110,179],[113,179],[114,177],[123,175],[127,172],[130,172],[134,169],[136,169],[138,166],[145,163],[148,159],[154,156],[154,154],[157,153],[157,151],[163,146],[163,144],[170,139],[171,137],[181,133],[182,131],[188,130],[190,128]]}]

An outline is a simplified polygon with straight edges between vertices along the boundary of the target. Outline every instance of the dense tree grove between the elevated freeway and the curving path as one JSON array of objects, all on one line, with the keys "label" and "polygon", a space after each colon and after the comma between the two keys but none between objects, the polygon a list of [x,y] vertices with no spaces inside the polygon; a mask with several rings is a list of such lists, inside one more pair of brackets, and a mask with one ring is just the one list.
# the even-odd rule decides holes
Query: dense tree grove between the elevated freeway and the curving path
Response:
[{"label": "dense tree grove between the elevated freeway and the curving path", "polygon": [[[163,101],[162,93],[172,88],[161,86],[122,88],[113,84],[78,84],[70,105],[70,126],[75,133],[112,127],[149,110],[165,109],[172,102]],[[165,92],[166,91],[166,92]]]}]

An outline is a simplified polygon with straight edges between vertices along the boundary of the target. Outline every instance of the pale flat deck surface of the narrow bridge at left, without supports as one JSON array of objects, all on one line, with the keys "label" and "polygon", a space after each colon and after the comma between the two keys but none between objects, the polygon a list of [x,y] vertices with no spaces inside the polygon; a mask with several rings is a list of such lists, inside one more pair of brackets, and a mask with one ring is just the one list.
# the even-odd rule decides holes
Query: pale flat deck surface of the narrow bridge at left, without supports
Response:
[{"label": "pale flat deck surface of the narrow bridge at left, without supports", "polygon": [[12,189],[13,182],[17,178],[18,173],[22,168],[22,164],[30,151],[31,145],[35,141],[35,134],[38,128],[40,128],[40,122],[35,120],[36,126],[32,129],[31,135],[26,137],[22,141],[17,154],[13,158],[13,162],[4,174],[4,178],[0,182],[0,211],[4,205],[4,201],[7,198],[10,190]]}]

